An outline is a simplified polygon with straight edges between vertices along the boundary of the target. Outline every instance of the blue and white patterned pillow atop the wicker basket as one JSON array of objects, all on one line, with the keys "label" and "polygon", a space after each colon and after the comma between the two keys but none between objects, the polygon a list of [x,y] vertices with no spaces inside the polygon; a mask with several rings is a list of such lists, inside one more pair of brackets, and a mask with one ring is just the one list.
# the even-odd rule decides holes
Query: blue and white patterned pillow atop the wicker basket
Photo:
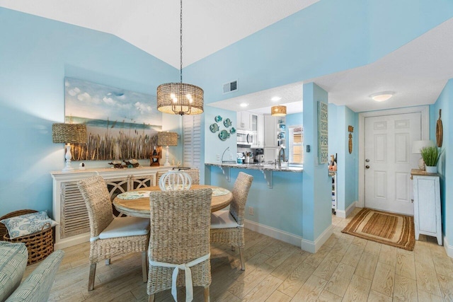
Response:
[{"label": "blue and white patterned pillow atop the wicker basket", "polygon": [[[38,233],[46,223],[50,223],[51,226],[56,226],[58,224],[57,221],[53,221],[47,216],[47,211],[14,216],[3,219],[0,222],[8,229],[9,238],[11,239]],[[45,228],[48,227],[48,225],[45,226]],[[0,240],[3,240],[3,238],[0,238]]]}]

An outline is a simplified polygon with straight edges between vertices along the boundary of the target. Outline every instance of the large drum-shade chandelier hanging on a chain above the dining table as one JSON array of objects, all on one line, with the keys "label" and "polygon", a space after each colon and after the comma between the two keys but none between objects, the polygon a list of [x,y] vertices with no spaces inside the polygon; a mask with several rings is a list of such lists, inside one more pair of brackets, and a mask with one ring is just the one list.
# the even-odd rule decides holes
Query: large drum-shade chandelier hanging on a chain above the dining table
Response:
[{"label": "large drum-shade chandelier hanging on a chain above the dining table", "polygon": [[183,0],[180,0],[180,83],[165,83],[157,87],[157,110],[171,115],[203,113],[202,88],[183,83]]}]

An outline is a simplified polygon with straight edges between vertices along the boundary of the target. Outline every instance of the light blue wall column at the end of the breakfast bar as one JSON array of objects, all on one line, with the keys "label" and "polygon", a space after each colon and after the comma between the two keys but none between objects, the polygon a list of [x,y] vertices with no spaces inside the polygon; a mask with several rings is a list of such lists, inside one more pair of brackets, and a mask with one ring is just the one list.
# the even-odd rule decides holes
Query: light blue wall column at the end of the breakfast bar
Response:
[{"label": "light blue wall column at the end of the breakfast bar", "polygon": [[314,83],[304,84],[304,182],[302,228],[305,240],[313,241],[331,226],[331,182],[327,163],[318,163],[318,101],[328,103],[328,93]]}]

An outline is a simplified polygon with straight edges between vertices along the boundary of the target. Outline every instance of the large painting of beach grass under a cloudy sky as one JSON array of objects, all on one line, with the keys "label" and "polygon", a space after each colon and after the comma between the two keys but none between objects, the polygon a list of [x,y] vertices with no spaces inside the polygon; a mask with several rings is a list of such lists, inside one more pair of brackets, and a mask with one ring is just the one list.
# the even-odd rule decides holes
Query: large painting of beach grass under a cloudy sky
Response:
[{"label": "large painting of beach grass under a cloudy sky", "polygon": [[150,158],[162,129],[156,96],[65,78],[64,103],[65,121],[86,124],[88,134],[74,144],[74,161]]}]

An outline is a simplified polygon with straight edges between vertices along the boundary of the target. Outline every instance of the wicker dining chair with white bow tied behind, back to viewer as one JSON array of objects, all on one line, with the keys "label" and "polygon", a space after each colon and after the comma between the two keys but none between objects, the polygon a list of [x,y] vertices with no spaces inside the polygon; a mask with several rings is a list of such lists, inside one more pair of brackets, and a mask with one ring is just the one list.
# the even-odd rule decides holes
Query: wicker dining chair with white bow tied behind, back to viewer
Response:
[{"label": "wicker dining chair with white bow tied behind, back to viewer", "polygon": [[185,286],[185,301],[193,298],[193,286],[203,286],[205,301],[210,301],[211,197],[211,189],[150,192],[149,301],[166,289],[178,301],[177,286]]}]

